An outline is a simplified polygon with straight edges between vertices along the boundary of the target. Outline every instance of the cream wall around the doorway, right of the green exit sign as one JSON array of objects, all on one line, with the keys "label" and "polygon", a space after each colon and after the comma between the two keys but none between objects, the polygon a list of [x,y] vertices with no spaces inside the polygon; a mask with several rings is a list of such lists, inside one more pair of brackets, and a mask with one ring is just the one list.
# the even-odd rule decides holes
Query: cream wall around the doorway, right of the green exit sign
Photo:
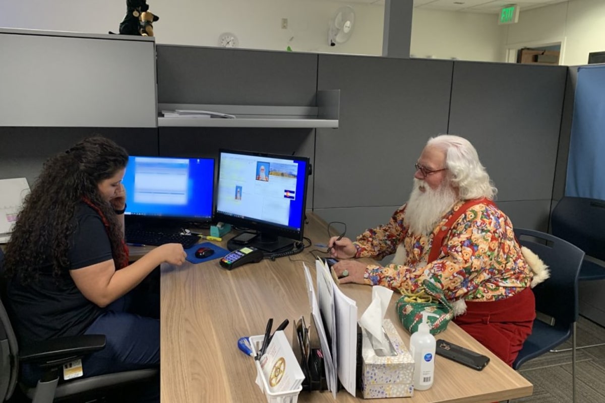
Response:
[{"label": "cream wall around the doorway, right of the green exit sign", "polygon": [[605,1],[571,0],[520,12],[508,25],[507,47],[562,42],[561,65],[584,65],[588,54],[605,51]]}]

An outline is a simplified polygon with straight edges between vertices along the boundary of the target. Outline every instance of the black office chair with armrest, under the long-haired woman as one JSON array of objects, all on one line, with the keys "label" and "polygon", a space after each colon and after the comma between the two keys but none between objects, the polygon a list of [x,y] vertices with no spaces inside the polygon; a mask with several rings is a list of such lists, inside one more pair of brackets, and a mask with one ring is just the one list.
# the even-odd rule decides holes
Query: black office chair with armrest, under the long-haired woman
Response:
[{"label": "black office chair with armrest, under the long-haired woman", "polygon": [[[4,253],[0,250],[0,276],[3,276],[3,259]],[[126,387],[134,382],[149,381],[159,374],[158,369],[143,369],[76,378],[59,383],[63,364],[105,347],[105,335],[62,337],[19,350],[2,300],[4,295],[0,299],[0,402],[11,398],[17,384],[32,403],[93,401],[109,390]],[[42,370],[43,375],[35,387],[19,382],[19,365],[24,363],[37,365]]]}]

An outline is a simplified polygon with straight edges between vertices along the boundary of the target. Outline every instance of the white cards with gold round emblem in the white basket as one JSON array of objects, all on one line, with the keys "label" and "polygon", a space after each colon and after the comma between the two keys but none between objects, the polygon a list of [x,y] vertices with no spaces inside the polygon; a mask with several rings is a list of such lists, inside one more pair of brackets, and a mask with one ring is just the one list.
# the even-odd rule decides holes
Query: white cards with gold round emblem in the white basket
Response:
[{"label": "white cards with gold round emblem in the white basket", "polygon": [[271,393],[298,389],[304,381],[304,373],[283,330],[273,334],[261,358],[261,368]]}]

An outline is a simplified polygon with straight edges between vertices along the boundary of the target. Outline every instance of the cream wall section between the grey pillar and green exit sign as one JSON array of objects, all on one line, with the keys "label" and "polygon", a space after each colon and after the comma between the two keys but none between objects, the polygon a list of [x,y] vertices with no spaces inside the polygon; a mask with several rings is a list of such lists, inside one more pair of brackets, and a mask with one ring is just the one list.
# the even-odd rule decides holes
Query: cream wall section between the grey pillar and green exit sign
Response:
[{"label": "cream wall section between the grey pillar and green exit sign", "polygon": [[497,15],[414,8],[410,53],[415,57],[504,62],[506,28]]}]

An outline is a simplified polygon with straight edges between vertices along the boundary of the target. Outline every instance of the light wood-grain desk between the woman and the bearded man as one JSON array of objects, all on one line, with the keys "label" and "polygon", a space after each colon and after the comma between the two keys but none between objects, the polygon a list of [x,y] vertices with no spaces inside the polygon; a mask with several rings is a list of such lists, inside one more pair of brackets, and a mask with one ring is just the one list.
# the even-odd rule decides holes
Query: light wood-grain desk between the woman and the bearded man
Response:
[{"label": "light wood-grain desk between the woman and the bearded man", "polygon": [[[309,221],[306,236],[326,242],[325,223],[313,214],[309,214]],[[269,317],[274,318],[274,323],[290,320],[286,329],[289,338],[293,320],[305,315],[310,323],[302,260],[307,262],[313,280],[315,261],[307,251],[290,258],[263,260],[233,271],[221,268],[218,260],[200,265],[162,266],[162,403],[266,402],[254,382],[257,373],[252,358],[238,349],[237,340],[264,334]],[[357,301],[361,316],[370,303],[371,288],[342,285],[341,289]],[[387,317],[407,344],[410,336],[397,320],[395,301],[394,295]],[[493,402],[532,394],[529,381],[456,324],[450,323],[439,337],[488,355],[491,362],[477,372],[438,356],[433,387],[414,392],[406,402]],[[336,399],[360,400],[359,392],[358,398],[354,398],[344,390],[338,392]],[[333,398],[327,391],[301,392],[298,401],[332,402]]]}]

